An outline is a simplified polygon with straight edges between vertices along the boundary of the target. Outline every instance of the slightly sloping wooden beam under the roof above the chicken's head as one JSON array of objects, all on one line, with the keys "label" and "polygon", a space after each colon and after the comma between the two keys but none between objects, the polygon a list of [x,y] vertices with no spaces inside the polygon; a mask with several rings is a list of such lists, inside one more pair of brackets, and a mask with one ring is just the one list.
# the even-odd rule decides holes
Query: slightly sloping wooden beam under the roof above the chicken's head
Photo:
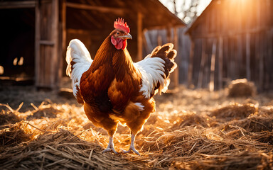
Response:
[{"label": "slightly sloping wooden beam under the roof above the chicken's head", "polygon": [[124,11],[126,9],[124,8],[112,8],[112,7],[106,7],[106,6],[91,6],[87,4],[77,4],[73,2],[67,2],[66,6],[68,8],[78,8],[78,9],[84,9],[84,10],[93,10],[93,11],[100,11],[102,13],[117,13],[118,15],[123,15]]}]

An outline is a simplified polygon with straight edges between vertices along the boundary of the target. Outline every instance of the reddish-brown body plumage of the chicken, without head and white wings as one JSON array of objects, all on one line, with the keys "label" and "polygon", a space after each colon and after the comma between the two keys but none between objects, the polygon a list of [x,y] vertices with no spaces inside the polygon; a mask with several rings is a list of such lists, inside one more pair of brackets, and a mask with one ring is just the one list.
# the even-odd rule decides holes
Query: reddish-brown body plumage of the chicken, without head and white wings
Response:
[{"label": "reddish-brown body plumage of the chicken, without head and white wings", "polygon": [[[95,55],[90,69],[82,74],[80,94],[87,118],[114,135],[118,121],[137,133],[150,113],[155,111],[154,99],[139,93],[141,74],[133,65],[125,48],[117,50],[105,39]],[[141,103],[141,111],[134,103]]]}]

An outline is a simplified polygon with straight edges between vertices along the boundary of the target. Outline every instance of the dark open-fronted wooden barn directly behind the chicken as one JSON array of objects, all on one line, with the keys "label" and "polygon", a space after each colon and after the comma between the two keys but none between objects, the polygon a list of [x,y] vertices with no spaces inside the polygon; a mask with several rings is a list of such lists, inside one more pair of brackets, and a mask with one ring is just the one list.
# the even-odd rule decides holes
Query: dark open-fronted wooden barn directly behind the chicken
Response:
[{"label": "dark open-fronted wooden barn directly behind the chicken", "polygon": [[145,55],[145,30],[185,26],[158,0],[0,1],[0,79],[58,88],[69,41],[82,40],[94,57],[118,17],[131,28],[128,50],[134,61]]}]

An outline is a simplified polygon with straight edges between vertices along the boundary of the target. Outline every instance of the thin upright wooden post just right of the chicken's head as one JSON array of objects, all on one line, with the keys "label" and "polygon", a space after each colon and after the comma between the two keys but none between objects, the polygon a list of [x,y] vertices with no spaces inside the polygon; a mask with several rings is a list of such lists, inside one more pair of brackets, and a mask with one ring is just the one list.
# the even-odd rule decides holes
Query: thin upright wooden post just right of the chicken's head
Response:
[{"label": "thin upright wooden post just right of the chicken's head", "polygon": [[142,13],[137,12],[137,61],[142,60]]}]

